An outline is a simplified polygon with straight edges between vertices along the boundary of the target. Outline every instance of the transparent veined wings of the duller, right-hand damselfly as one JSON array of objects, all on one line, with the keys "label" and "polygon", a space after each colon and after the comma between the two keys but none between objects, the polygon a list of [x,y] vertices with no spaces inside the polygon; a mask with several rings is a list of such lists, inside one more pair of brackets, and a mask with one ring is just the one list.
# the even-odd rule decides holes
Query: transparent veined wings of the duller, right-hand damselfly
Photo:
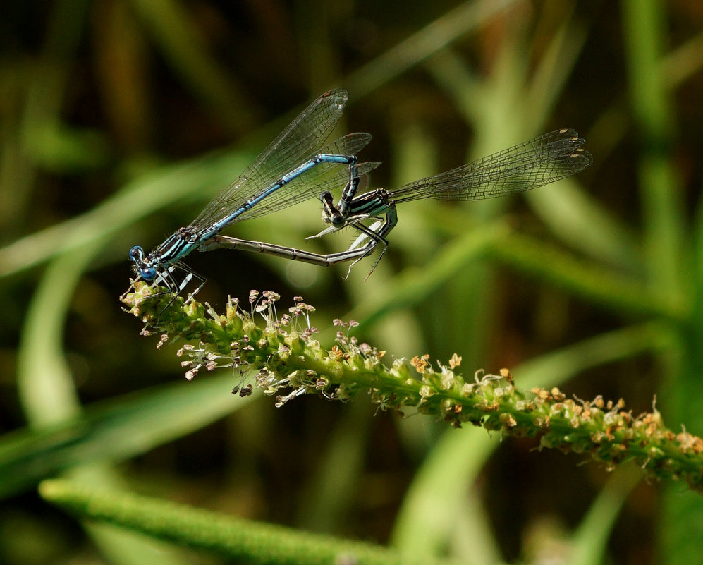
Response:
[{"label": "transparent veined wings of the duller, right-hand damselfly", "polygon": [[573,129],[545,133],[446,173],[389,190],[390,198],[396,202],[420,198],[482,200],[520,193],[577,174],[592,164],[592,155],[582,148],[585,142]]}]

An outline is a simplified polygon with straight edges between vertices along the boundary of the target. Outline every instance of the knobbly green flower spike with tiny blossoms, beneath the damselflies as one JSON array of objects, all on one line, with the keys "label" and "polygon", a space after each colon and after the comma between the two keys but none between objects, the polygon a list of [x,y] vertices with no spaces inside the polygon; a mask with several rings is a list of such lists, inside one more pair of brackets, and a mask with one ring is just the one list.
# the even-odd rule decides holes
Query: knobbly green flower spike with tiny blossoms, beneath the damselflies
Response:
[{"label": "knobbly green flower spike with tiny blossoms, beneath the damselflies", "polygon": [[365,391],[381,410],[417,411],[455,427],[472,423],[503,436],[539,437],[539,449],[590,454],[610,470],[632,459],[651,478],[682,480],[703,490],[703,440],[685,429],[668,430],[654,403],[651,413],[635,416],[625,411],[623,399],[567,399],[556,388],[524,391],[506,369],[465,379],[456,372],[461,363],[456,354],[436,367],[429,355],[406,363],[350,336],[355,322],[334,320],[336,344],[328,349],[314,339],[314,308],[300,297],[279,314],[278,294],[251,291],[248,308],[231,298],[220,315],[207,304],[171,301],[169,294],[154,292],[137,282],[122,300],[145,323],[143,335],[161,334],[159,347],[185,342],[178,356],[185,358],[187,379],[203,368],[233,367],[241,375],[233,392],[246,396],[255,385],[276,395],[276,406],[302,394],[344,401]]}]

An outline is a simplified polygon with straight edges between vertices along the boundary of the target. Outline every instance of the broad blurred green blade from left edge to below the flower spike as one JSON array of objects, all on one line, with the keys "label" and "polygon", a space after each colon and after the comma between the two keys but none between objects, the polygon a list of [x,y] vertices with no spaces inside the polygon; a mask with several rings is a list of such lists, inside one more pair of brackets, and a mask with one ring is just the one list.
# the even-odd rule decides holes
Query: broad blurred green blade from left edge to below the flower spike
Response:
[{"label": "broad blurred green blade from left edge to below the flower spike", "polygon": [[76,465],[118,462],[199,430],[246,406],[231,373],[177,382],[86,406],[73,420],[0,439],[0,496]]}]

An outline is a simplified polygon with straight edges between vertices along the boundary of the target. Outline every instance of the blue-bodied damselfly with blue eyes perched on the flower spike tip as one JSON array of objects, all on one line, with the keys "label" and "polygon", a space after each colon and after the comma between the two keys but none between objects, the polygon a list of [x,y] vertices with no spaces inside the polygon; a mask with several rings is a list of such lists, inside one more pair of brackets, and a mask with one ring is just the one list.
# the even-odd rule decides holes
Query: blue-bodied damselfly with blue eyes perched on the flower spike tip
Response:
[{"label": "blue-bodied damselfly with blue eyes perched on the flower spike tip", "polygon": [[[348,93],[341,89],[317,98],[188,226],[179,228],[148,255],[135,245],[129,256],[137,279],[164,284],[174,294],[195,279],[194,296],[205,279],[188,267],[183,257],[195,249],[216,246],[212,245],[215,236],[233,222],[270,214],[317,197],[321,190],[327,194],[341,186],[344,189],[335,210],[346,212],[360,175],[378,166],[357,164],[357,152],[371,140],[368,133],[350,133],[322,147],[341,118],[347,99]],[[334,257],[329,262],[334,262]],[[180,280],[178,271],[183,273]]]}]

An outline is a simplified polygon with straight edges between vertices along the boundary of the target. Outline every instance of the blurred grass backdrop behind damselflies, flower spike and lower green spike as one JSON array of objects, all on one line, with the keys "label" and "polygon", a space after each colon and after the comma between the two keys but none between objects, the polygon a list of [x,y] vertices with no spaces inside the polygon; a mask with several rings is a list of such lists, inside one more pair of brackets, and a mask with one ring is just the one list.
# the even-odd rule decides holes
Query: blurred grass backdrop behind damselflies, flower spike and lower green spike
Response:
[{"label": "blurred grass backdrop behind damselflies, flower spike and lower green spike", "polygon": [[[699,1],[63,0],[0,18],[0,562],[217,562],[73,520],[67,474],[466,563],[695,563],[703,502],[482,430],[360,398],[231,396],[185,382],[120,310],[157,245],[302,107],[350,92],[372,187],[573,127],[594,165],[524,197],[412,202],[372,260],[323,269],[196,253],[199,298],[272,289],[395,356],[511,367],[518,386],[657,408],[703,433],[703,6]],[[342,131],[340,133],[343,133]],[[317,251],[311,201],[228,233]]]}]

